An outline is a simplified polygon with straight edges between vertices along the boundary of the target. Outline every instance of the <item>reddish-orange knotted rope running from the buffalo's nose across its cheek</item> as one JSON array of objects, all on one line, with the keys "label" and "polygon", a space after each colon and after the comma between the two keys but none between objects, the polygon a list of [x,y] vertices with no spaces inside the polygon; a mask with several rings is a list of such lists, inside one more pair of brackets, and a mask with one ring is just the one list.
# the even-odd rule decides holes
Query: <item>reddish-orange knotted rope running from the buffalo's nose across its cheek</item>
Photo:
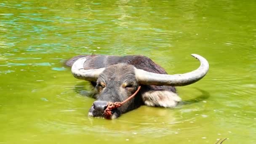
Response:
[{"label": "reddish-orange knotted rope running from the buffalo's nose across its cheek", "polygon": [[124,104],[125,102],[131,100],[134,96],[136,96],[136,94],[139,92],[139,90],[141,89],[141,86],[138,87],[138,89],[135,91],[135,93],[133,93],[133,95],[129,96],[127,99],[125,99],[122,102],[109,102],[107,105],[107,108],[104,110],[104,115],[106,115],[106,117],[109,117],[112,115],[111,110],[121,107],[122,104]]}]

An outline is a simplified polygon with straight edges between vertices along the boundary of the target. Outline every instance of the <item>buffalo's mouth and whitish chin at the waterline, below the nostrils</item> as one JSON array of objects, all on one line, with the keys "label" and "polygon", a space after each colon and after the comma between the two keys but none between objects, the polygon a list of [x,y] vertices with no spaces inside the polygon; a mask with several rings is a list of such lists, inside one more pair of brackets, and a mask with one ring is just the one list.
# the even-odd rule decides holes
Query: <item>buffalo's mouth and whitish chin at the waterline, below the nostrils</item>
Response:
[{"label": "buffalo's mouth and whitish chin at the waterline, below the nostrils", "polygon": [[96,109],[94,109],[93,107],[91,107],[91,109],[88,112],[88,117],[93,117],[93,118],[97,118],[97,119],[108,119],[108,120],[112,120],[115,119],[117,117],[120,116],[120,112],[118,111],[118,109],[112,109],[111,110],[112,115],[110,116],[106,116],[104,114],[104,111],[96,111]]}]

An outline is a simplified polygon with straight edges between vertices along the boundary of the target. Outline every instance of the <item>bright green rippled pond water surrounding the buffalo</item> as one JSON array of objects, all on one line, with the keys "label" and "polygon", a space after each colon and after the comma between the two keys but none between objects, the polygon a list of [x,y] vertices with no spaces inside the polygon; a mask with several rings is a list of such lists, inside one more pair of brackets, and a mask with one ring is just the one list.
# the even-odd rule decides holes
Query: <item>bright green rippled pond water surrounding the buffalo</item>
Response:
[{"label": "bright green rippled pond water surrounding the buffalo", "polygon": [[[176,109],[142,106],[116,120],[87,117],[78,54],[153,59],[169,74],[208,59],[177,88]],[[0,144],[256,143],[255,0],[1,0]]]}]

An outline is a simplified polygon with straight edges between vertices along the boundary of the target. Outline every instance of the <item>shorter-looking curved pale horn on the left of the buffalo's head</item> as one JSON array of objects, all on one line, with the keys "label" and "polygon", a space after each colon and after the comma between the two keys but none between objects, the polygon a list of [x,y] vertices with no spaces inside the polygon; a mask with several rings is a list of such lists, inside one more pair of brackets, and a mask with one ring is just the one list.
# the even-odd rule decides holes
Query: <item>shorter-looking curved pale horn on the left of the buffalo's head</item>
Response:
[{"label": "shorter-looking curved pale horn on the left of the buffalo's head", "polygon": [[85,61],[85,57],[77,59],[77,61],[75,61],[75,63],[72,65],[72,74],[78,79],[96,81],[105,68],[84,69],[83,64],[85,63]]}]

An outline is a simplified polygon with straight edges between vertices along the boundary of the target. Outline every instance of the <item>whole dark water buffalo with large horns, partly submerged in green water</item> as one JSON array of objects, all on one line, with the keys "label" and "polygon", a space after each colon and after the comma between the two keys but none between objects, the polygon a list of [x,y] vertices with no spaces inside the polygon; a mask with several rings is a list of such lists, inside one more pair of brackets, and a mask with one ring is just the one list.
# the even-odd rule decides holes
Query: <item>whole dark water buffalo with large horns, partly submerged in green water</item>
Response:
[{"label": "whole dark water buffalo with large horns, partly submerged in green water", "polygon": [[[121,114],[147,105],[176,107],[181,98],[174,86],[184,86],[203,78],[209,69],[208,61],[197,54],[200,67],[184,74],[168,75],[165,70],[146,56],[75,56],[66,62],[78,79],[88,80],[96,89],[88,116],[114,119]],[[111,109],[109,102],[124,101],[141,86],[141,90],[121,107]]]}]

